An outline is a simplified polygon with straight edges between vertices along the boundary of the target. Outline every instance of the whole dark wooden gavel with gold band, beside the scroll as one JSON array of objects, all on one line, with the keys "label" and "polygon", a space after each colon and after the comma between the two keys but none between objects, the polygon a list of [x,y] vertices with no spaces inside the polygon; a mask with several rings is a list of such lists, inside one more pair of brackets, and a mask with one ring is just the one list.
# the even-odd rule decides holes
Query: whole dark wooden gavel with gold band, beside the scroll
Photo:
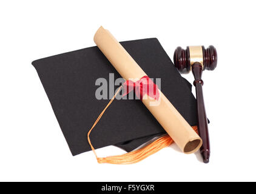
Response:
[{"label": "whole dark wooden gavel with gold band, beside the scroll", "polygon": [[208,163],[210,158],[210,142],[208,133],[208,121],[204,108],[203,80],[201,79],[203,70],[214,70],[217,66],[217,52],[214,46],[204,49],[204,46],[189,46],[186,50],[177,47],[173,56],[175,67],[181,73],[189,73],[192,70],[197,93],[197,112],[198,112],[198,132],[203,140],[200,148],[203,162]]}]

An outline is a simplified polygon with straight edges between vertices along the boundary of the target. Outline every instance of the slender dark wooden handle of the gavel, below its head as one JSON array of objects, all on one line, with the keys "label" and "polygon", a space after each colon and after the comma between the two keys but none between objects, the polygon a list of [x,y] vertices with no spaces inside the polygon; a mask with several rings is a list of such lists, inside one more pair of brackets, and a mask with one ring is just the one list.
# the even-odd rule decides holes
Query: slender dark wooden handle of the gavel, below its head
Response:
[{"label": "slender dark wooden handle of the gavel, below its head", "polygon": [[204,107],[203,80],[201,79],[202,72],[202,65],[199,62],[195,62],[192,65],[192,73],[195,78],[194,85],[197,93],[198,132],[201,139],[203,140],[203,145],[200,148],[200,152],[201,155],[203,156],[203,162],[208,163],[210,158],[210,142],[208,132],[208,121]]}]

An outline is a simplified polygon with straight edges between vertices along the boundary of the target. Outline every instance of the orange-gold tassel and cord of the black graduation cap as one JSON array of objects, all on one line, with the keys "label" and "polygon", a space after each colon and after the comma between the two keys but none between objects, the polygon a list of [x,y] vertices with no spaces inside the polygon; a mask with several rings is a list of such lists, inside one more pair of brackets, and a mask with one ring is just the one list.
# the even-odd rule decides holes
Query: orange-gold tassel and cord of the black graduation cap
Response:
[{"label": "orange-gold tassel and cord of the black graduation cap", "polygon": [[[109,101],[109,103],[103,109],[103,112],[101,112],[99,114],[98,118],[96,119],[96,121],[92,125],[91,129],[87,133],[88,142],[89,142],[90,147],[92,148],[92,151],[93,151],[94,155],[96,156],[96,159],[97,159],[99,164],[102,164],[102,163],[109,163],[109,164],[134,164],[136,162],[140,162],[141,160],[147,158],[148,156],[152,155],[153,153],[158,152],[159,150],[163,149],[164,147],[170,146],[170,144],[173,143],[173,139],[170,138],[169,135],[165,135],[165,136],[163,136],[161,138],[158,138],[157,140],[153,141],[151,144],[149,144],[149,145],[147,145],[147,146],[145,146],[145,147],[143,147],[141,149],[134,150],[132,152],[125,153],[123,155],[107,156],[107,157],[104,157],[104,158],[98,158],[98,156],[97,156],[97,154],[95,152],[95,149],[92,146],[92,142],[90,141],[90,133],[92,132],[92,130],[95,127],[95,125],[99,122],[99,119],[101,119],[101,116],[103,116],[104,112],[107,110],[109,105],[113,102],[113,100],[115,99],[116,95],[120,92],[122,87],[123,87],[123,85],[121,85],[118,88],[118,90],[116,90],[116,93],[113,96],[113,98]],[[195,130],[195,132],[198,133],[197,126],[193,126],[192,128]]]}]

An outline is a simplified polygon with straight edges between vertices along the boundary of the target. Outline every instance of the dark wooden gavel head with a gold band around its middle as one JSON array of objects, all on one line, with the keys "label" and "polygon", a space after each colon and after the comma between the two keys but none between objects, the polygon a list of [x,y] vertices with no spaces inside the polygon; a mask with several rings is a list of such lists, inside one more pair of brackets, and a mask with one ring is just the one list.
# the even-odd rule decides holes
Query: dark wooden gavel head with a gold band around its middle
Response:
[{"label": "dark wooden gavel head with a gold band around its middle", "polygon": [[199,62],[203,70],[214,70],[217,66],[217,52],[213,45],[207,49],[204,46],[189,46],[186,50],[177,47],[173,61],[181,73],[189,73],[195,62]]}]

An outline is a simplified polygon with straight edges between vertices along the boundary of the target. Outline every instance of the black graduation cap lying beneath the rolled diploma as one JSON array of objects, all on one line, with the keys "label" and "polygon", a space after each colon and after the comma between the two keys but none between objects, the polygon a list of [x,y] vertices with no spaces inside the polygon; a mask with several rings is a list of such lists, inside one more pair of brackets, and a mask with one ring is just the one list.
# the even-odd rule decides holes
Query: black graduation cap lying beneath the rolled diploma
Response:
[{"label": "black graduation cap lying beneath the rolled diploma", "polygon": [[[191,85],[182,78],[156,38],[121,42],[150,78],[161,78],[161,91],[189,122],[197,125],[197,104]],[[72,155],[91,150],[87,133],[109,99],[98,100],[98,78],[121,76],[98,47],[33,61]],[[155,81],[155,79],[154,79]],[[115,90],[118,86],[115,86]],[[139,99],[115,99],[92,130],[95,149],[110,145],[130,152],[166,133]]]}]

